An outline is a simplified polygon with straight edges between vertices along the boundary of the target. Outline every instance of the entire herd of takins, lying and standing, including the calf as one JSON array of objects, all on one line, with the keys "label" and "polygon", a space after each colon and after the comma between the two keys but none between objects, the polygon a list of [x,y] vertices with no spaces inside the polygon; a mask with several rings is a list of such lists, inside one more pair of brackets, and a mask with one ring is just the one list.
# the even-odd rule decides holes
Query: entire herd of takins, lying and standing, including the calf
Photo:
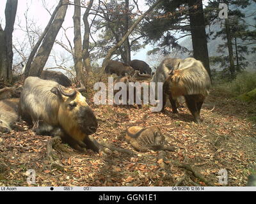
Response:
[{"label": "entire herd of takins, lying and standing, including the calf", "polygon": [[[211,78],[202,62],[191,57],[166,58],[152,73],[144,61],[132,60],[130,66],[119,61],[109,61],[105,72],[118,76],[114,84],[124,82],[128,86],[129,82],[162,82],[161,112],[164,112],[166,100],[169,99],[173,113],[178,113],[177,101],[182,97],[195,122],[201,122],[200,109],[211,87]],[[71,85],[72,82],[63,73],[43,71],[40,78],[26,78],[22,86],[0,89],[0,132],[28,129],[28,126],[24,128],[16,125],[15,122],[21,117],[33,126],[37,135],[60,136],[63,142],[76,150],[83,151],[86,148],[99,152],[99,143],[92,141],[90,136],[97,131],[97,117],[86,103],[86,98]],[[155,88],[157,91],[157,85]],[[138,89],[134,89],[134,99],[136,91]],[[141,106],[138,105],[139,108]],[[157,126],[132,126],[127,129],[125,138],[140,152],[174,150],[174,147],[166,145],[161,129]]]}]

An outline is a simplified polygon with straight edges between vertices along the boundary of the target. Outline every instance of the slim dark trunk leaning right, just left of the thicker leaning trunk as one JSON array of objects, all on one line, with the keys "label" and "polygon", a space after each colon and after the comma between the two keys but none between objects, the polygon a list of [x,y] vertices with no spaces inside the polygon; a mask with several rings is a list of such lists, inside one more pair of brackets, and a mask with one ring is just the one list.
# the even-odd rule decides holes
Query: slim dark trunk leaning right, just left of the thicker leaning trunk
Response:
[{"label": "slim dark trunk leaning right, just left of the thicker leaning trunk", "polygon": [[57,11],[59,10],[60,6],[62,5],[62,1],[63,0],[60,0],[58,6],[56,6],[56,8],[53,11],[52,16],[51,16],[48,24],[46,25],[46,27],[44,29],[44,33],[41,34],[39,40],[36,42],[35,47],[33,47],[33,50],[31,51],[31,53],[30,53],[30,55],[28,57],[28,62],[26,64],[25,71],[24,71],[24,76],[25,77],[28,77],[28,75],[29,75],[29,71],[30,71],[30,68],[31,68],[31,63],[32,63],[32,61],[33,61],[33,59],[35,57],[36,51],[38,50],[38,47],[41,45],[42,40],[44,40],[45,34],[47,34],[47,32],[49,31],[50,26],[52,24],[52,21],[54,20],[54,17],[56,16]]}]

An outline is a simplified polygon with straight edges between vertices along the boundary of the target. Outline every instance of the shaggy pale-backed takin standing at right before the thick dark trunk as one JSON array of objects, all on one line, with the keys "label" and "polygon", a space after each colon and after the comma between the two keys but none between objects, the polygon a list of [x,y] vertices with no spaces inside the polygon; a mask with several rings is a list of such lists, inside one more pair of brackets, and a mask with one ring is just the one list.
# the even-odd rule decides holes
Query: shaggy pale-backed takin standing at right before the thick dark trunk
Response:
[{"label": "shaggy pale-backed takin standing at right before the thick dark trunk", "polygon": [[192,57],[181,61],[169,58],[165,59],[161,66],[163,69],[169,69],[169,76],[163,84],[163,107],[168,96],[173,113],[178,113],[175,99],[184,96],[195,122],[200,123],[200,110],[211,87],[211,78],[202,62]]}]

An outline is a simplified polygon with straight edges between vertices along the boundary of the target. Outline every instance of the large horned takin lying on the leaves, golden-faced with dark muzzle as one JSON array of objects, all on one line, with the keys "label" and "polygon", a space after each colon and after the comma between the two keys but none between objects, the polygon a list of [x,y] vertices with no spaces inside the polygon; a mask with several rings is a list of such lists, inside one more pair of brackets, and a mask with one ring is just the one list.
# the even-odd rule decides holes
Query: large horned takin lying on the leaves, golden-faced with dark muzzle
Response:
[{"label": "large horned takin lying on the leaves, golden-faced with dark muzzle", "polygon": [[33,122],[38,135],[61,136],[74,149],[99,152],[88,135],[96,132],[97,119],[76,89],[57,82],[28,77],[20,96],[20,114]]}]

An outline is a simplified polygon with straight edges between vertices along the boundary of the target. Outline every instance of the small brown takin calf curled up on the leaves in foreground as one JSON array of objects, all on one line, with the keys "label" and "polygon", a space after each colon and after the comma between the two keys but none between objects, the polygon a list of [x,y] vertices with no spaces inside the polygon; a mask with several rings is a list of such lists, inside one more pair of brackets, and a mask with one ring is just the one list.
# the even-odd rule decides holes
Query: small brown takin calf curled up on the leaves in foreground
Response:
[{"label": "small brown takin calf curled up on the leaves in foreground", "polygon": [[132,126],[127,129],[125,139],[138,152],[147,152],[148,150],[168,150],[173,152],[175,150],[174,147],[165,145],[164,135],[157,126],[148,128]]}]

